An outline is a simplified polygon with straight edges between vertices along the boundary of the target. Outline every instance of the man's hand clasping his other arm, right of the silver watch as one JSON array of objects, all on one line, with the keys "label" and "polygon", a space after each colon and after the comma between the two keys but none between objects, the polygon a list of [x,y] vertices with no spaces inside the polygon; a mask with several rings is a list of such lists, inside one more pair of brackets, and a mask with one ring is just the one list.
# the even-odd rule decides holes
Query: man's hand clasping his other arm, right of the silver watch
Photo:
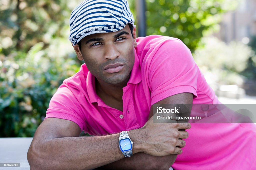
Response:
[{"label": "man's hand clasping his other arm, right of the silver watch", "polygon": [[153,117],[141,128],[144,132],[145,144],[143,152],[153,156],[181,154],[188,137],[189,123],[153,123]]}]

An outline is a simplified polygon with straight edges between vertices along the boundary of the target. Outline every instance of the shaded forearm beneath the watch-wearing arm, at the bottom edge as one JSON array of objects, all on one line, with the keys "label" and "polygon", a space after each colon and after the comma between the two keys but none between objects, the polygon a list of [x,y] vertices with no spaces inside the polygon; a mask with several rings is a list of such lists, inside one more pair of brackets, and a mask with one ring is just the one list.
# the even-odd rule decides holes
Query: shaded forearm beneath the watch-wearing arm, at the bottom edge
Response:
[{"label": "shaded forearm beneath the watch-wearing arm, at the bottom edge", "polygon": [[134,154],[132,157],[123,158],[119,161],[104,165],[96,169],[123,169],[123,170],[151,170],[151,169],[166,169],[174,163],[177,154],[167,156],[152,156],[143,152]]}]

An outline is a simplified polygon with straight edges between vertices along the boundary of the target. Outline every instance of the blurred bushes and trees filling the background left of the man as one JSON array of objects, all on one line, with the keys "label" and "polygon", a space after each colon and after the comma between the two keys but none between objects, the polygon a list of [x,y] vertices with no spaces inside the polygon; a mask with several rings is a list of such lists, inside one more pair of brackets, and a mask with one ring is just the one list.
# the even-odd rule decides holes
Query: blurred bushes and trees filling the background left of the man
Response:
[{"label": "blurred bushes and trees filling the background left of the man", "polygon": [[0,3],[0,137],[31,137],[59,85],[80,68],[67,39],[78,2]]}]

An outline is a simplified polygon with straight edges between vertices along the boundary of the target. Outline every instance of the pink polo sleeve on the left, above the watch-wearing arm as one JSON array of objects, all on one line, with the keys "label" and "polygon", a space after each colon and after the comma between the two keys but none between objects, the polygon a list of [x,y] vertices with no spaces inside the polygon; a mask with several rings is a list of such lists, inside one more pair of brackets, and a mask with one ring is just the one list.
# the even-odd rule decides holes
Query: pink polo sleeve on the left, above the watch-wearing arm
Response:
[{"label": "pink polo sleeve on the left, above the watch-wearing arm", "polygon": [[62,84],[49,103],[46,118],[54,117],[70,120],[76,123],[81,131],[87,131],[78,103],[76,95],[65,84]]}]

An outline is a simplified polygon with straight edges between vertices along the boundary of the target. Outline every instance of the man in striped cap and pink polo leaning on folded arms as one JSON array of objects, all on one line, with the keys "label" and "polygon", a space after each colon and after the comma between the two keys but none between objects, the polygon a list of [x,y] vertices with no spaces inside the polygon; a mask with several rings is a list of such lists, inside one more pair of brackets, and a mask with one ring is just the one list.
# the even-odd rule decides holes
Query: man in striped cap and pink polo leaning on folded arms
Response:
[{"label": "man in striped cap and pink polo leaning on folded arms", "polygon": [[[126,0],[86,0],[73,10],[70,41],[85,64],[51,99],[30,168],[254,168],[250,124],[153,123],[155,103],[219,101],[180,40],[136,39],[133,24]],[[94,136],[79,137],[82,130]]]}]

